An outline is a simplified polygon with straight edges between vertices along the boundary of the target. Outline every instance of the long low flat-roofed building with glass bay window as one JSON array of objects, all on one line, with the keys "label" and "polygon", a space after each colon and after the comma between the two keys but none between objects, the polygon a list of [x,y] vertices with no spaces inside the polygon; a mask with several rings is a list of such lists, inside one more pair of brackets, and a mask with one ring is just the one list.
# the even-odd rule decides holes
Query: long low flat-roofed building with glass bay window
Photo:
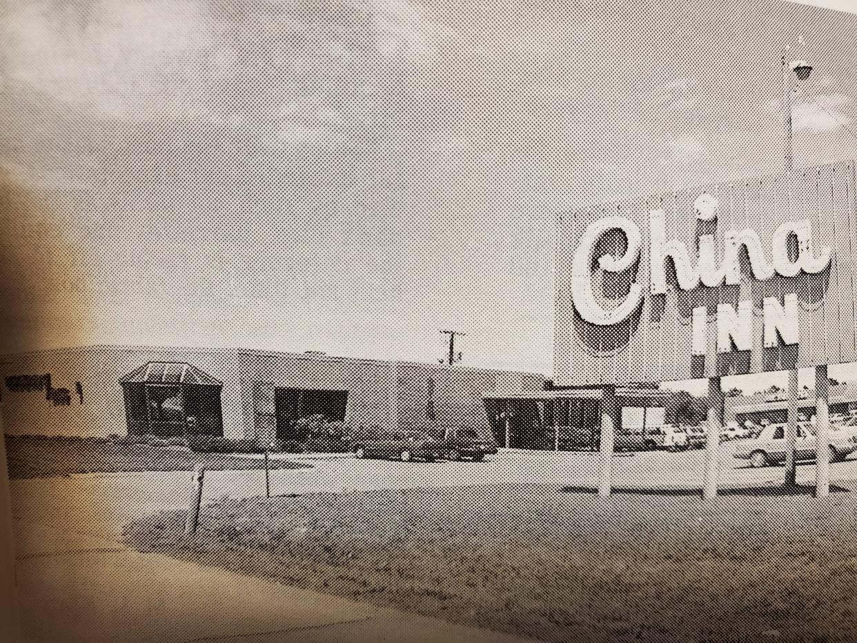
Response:
[{"label": "long low flat-roofed building with glass bay window", "polygon": [[538,392],[535,373],[232,348],[85,346],[4,356],[9,434],[205,433],[294,439],[298,418],[352,426],[475,424],[482,394]]}]

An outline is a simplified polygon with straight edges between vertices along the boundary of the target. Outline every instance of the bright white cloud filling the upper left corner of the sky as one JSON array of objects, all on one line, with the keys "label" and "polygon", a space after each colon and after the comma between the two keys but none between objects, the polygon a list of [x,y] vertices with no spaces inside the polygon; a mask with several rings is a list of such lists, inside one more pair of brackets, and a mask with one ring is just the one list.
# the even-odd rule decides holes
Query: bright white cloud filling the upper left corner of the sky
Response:
[{"label": "bright white cloud filling the upper left corner of the sky", "polygon": [[[213,35],[200,13],[172,3],[6,6],[0,25],[6,78],[113,117],[174,106],[170,98],[176,94],[165,96],[165,91],[197,87],[197,65],[189,64],[187,55],[206,52]],[[215,56],[225,60],[224,52]],[[217,73],[223,65],[211,69]]]}]

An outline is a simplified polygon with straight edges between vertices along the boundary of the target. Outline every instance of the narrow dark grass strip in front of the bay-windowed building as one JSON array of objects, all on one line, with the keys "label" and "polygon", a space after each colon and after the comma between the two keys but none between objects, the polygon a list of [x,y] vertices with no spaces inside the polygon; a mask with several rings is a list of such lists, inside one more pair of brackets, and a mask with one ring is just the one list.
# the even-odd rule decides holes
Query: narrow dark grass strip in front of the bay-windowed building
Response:
[{"label": "narrow dark grass strip in front of the bay-windowed building", "polygon": [[[113,444],[85,438],[6,436],[9,478],[50,478],[71,473],[190,471],[197,462],[208,469],[261,469],[258,458],[234,454],[195,454],[188,449],[150,447],[145,444]],[[297,469],[305,465],[271,460],[272,469]]]}]

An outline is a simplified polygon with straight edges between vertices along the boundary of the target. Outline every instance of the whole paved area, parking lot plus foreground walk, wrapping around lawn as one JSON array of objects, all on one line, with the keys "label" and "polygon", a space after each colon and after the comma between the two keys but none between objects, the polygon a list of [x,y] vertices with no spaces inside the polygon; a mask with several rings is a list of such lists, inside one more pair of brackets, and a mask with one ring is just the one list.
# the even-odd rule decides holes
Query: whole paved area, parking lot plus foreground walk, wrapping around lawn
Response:
[{"label": "whole paved area, parking lot plus foreground walk, wrapping around lawn", "polygon": [[[721,449],[725,487],[782,484],[782,466],[752,469]],[[325,458],[271,472],[273,496],[491,484],[592,487],[598,454],[501,450],[483,462]],[[701,487],[704,451],[617,454],[617,488]],[[815,468],[798,467],[811,484]],[[830,466],[857,480],[857,460]],[[207,472],[203,502],[264,494],[264,472]],[[159,509],[186,508],[189,472],[110,473],[11,481],[16,575],[24,630],[33,641],[476,640],[506,635],[332,598],[221,569],[201,568],[121,544],[123,525]],[[204,510],[203,519],[204,520]]]}]

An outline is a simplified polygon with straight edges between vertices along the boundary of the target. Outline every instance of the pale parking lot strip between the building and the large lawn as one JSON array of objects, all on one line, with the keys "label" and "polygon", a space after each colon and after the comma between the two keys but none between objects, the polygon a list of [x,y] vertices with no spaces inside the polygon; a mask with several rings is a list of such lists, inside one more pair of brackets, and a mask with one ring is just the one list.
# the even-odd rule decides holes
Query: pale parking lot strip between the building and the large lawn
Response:
[{"label": "pale parking lot strip between the building and the large lawn", "polygon": [[[753,469],[731,457],[737,442],[721,447],[719,483],[766,486],[782,483],[782,466]],[[300,456],[282,455],[285,459]],[[704,450],[680,453],[616,454],[614,487],[658,490],[701,486]],[[399,462],[344,457],[303,456],[307,468],[270,472],[273,496],[367,490],[431,489],[494,484],[548,484],[594,487],[596,453],[539,452],[500,449],[482,462]],[[812,483],[812,464],[798,466],[798,482]],[[857,459],[830,466],[832,481],[857,480]],[[188,472],[122,472],[72,475],[68,478],[12,480],[15,517],[32,523],[74,526],[75,530],[117,535],[123,525],[148,512],[185,508],[189,502]],[[259,469],[207,472],[204,502],[225,497],[241,499],[265,493]]]}]

